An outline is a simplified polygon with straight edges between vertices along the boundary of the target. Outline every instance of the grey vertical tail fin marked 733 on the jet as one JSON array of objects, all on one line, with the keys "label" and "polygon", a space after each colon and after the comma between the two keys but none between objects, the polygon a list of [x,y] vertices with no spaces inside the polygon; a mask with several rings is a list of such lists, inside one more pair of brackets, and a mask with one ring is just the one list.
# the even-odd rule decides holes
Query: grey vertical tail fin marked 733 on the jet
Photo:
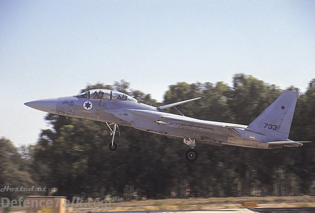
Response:
[{"label": "grey vertical tail fin marked 733 on the jet", "polygon": [[289,137],[298,93],[284,91],[248,126],[249,131],[265,135],[271,141],[285,141]]}]

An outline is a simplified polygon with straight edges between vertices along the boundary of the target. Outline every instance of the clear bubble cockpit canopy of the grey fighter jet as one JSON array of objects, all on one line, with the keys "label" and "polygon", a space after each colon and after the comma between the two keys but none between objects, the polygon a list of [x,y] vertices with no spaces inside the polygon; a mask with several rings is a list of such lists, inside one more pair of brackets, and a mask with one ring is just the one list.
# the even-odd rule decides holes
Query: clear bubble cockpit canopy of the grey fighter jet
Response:
[{"label": "clear bubble cockpit canopy of the grey fighter jet", "polygon": [[105,100],[125,100],[125,101],[133,101],[138,102],[135,98],[126,95],[120,91],[112,91],[112,90],[103,90],[103,89],[95,89],[90,91],[84,91],[80,94],[74,95],[74,97],[78,98],[91,98],[91,99],[105,99]]}]

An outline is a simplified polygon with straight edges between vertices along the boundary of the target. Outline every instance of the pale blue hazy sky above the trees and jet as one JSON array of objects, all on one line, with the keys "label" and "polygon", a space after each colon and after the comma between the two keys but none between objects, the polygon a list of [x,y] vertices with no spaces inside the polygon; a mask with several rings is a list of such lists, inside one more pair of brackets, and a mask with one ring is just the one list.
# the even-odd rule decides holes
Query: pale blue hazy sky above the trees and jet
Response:
[{"label": "pale blue hazy sky above the trees and jet", "polygon": [[306,91],[315,1],[0,0],[0,138],[16,146],[49,128],[31,100],[125,80],[162,101],[177,82],[236,73]]}]

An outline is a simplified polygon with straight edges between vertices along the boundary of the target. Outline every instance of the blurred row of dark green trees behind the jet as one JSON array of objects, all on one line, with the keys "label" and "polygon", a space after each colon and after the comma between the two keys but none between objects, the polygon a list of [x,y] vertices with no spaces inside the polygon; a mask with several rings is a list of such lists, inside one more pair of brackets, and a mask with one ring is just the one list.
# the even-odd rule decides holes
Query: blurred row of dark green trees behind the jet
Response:
[{"label": "blurred row of dark green trees behind the jet", "polygon": [[[178,108],[185,116],[245,125],[280,94],[278,86],[245,74],[233,76],[233,87],[223,82],[179,82],[169,86],[163,103],[131,90],[126,81],[88,85],[82,91],[100,88],[122,91],[157,107],[200,96]],[[299,91],[293,86],[287,90]],[[118,149],[112,152],[109,130],[102,122],[53,114],[45,119],[51,128],[41,131],[35,145],[15,148],[0,139],[0,188],[37,185],[57,188],[54,195],[126,199],[315,194],[315,143],[261,150],[197,141],[199,158],[189,163],[182,139],[120,126]],[[315,79],[298,98],[290,139],[315,142]],[[5,193],[1,196],[21,192]]]}]

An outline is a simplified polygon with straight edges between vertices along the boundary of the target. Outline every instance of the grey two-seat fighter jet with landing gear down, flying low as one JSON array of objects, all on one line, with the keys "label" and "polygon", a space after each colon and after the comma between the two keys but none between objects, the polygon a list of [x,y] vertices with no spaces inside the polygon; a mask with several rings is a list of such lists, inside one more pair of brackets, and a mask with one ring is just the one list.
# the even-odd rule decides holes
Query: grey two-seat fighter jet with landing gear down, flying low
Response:
[{"label": "grey two-seat fighter jet with landing gear down, flying low", "polygon": [[[204,121],[185,117],[176,106],[200,97],[184,100],[160,107],[139,103],[135,98],[113,90],[90,90],[80,94],[51,99],[35,100],[25,103],[34,109],[67,117],[91,119],[105,122],[109,127],[112,140],[111,151],[116,150],[114,143],[118,125],[130,126],[160,135],[179,137],[190,149],[186,159],[193,162],[198,153],[195,142],[208,145],[233,145],[260,149],[300,147],[303,142],[288,139],[298,93],[284,91],[249,125]],[[165,112],[176,108],[181,115]]]}]

